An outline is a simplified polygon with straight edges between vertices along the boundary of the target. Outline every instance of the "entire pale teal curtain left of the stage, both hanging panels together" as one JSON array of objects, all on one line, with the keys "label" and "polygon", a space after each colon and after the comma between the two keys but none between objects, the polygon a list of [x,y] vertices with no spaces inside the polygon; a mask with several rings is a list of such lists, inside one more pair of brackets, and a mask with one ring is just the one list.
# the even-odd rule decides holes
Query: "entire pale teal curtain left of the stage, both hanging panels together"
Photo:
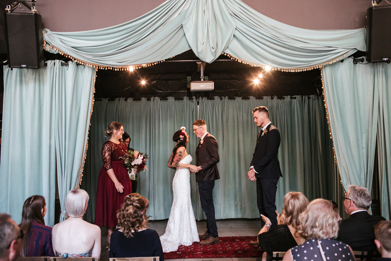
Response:
[{"label": "entire pale teal curtain left of the stage, both hanging panels together", "polygon": [[56,159],[62,206],[66,190],[77,187],[94,75],[91,67],[61,66],[60,61],[40,69],[4,66],[0,212],[16,222],[24,201],[42,195],[48,208],[45,223],[54,225]]}]

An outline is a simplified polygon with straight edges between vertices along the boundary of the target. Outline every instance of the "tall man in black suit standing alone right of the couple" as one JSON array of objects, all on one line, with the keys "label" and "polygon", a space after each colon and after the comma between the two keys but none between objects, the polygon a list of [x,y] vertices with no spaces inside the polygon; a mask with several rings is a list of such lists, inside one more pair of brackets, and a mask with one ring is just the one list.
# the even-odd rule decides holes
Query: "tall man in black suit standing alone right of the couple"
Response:
[{"label": "tall man in black suit standing alone right of the couple", "polygon": [[[280,132],[272,125],[268,108],[259,106],[253,110],[253,114],[254,122],[262,129],[257,136],[257,144],[247,176],[249,180],[257,182],[259,214],[268,217],[272,222],[271,228],[273,228],[277,225],[277,183],[279,177],[282,177],[280,163],[277,159],[281,142]],[[261,219],[261,224],[263,227],[263,219]]]}]

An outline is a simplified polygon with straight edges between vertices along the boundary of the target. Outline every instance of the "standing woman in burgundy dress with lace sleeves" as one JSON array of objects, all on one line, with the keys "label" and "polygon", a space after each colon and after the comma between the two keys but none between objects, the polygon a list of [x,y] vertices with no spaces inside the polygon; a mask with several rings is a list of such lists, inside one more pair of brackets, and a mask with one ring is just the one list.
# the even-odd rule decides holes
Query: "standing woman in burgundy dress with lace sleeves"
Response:
[{"label": "standing woman in burgundy dress with lace sleeves", "polygon": [[132,183],[128,170],[123,165],[123,157],[128,146],[120,142],[123,126],[116,121],[109,124],[104,135],[110,140],[103,144],[103,167],[99,173],[96,196],[95,224],[108,229],[108,241],[117,225],[117,211],[123,199],[132,193]]}]

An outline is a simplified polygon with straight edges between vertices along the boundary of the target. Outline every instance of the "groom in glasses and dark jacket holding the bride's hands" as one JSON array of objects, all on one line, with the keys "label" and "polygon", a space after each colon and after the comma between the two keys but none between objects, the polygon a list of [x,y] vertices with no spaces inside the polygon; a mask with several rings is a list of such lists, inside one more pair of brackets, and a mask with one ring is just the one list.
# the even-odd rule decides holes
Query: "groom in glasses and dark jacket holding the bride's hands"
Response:
[{"label": "groom in glasses and dark jacket holding the bride's hands", "polygon": [[220,179],[219,170],[217,169],[217,163],[220,161],[219,144],[216,138],[206,131],[206,123],[202,119],[194,121],[193,132],[201,138],[201,141],[197,146],[197,150],[195,150],[198,169],[190,169],[190,171],[198,171],[195,173],[195,180],[198,181],[201,206],[206,215],[207,228],[207,231],[200,235],[200,238],[206,238],[206,240],[200,242],[200,245],[210,245],[220,242],[216,225],[215,205],[213,204],[215,180]]}]

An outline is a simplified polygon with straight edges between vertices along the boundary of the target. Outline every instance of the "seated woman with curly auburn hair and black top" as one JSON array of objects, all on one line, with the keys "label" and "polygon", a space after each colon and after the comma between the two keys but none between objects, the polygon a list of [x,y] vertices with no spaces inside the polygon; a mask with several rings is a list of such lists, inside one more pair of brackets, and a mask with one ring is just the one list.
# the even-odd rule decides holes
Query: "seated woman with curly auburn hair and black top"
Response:
[{"label": "seated woman with curly auburn hair and black top", "polygon": [[158,256],[164,260],[162,243],[156,231],[148,229],[148,199],[132,193],[117,212],[119,230],[111,234],[109,257]]}]

